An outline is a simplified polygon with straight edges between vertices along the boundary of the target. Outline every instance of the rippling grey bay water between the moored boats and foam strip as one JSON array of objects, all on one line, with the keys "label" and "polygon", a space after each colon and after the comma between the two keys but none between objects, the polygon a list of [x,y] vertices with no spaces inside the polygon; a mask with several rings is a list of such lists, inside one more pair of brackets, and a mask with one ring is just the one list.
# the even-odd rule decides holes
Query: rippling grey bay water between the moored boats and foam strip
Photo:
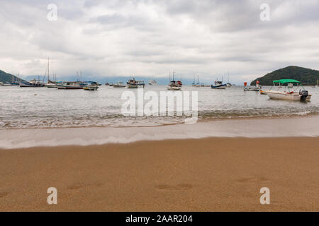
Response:
[{"label": "rippling grey bay water between the moored boats and foam strip", "polygon": [[[148,90],[167,91],[166,85],[147,85]],[[269,100],[267,95],[244,92],[241,86],[226,90],[198,91],[198,119],[289,117],[319,114],[319,88],[306,88],[311,102]],[[121,114],[126,88],[102,85],[97,91],[57,90],[0,86],[0,129],[60,128],[82,126],[160,126],[179,124],[184,117],[125,117]],[[135,89],[130,89],[137,92]],[[264,89],[266,90],[266,89]]]}]

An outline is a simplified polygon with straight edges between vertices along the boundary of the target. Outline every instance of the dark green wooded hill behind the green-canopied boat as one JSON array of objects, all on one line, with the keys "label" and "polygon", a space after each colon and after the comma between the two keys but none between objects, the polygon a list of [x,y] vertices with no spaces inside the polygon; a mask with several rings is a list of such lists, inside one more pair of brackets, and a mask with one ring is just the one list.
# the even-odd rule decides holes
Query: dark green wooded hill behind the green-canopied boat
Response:
[{"label": "dark green wooded hill behind the green-canopied boat", "polygon": [[284,69],[279,69],[257,78],[250,85],[255,85],[257,80],[261,85],[273,85],[272,81],[285,78],[295,79],[303,85],[315,85],[319,79],[319,71],[301,68],[300,66],[287,66]]}]

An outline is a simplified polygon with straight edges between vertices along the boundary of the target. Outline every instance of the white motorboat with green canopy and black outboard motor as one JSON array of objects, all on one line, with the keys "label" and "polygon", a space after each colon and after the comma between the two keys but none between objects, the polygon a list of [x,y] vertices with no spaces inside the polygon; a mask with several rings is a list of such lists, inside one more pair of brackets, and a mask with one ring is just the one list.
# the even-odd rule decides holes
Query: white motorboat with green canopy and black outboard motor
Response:
[{"label": "white motorboat with green canopy and black outboard motor", "polygon": [[[310,101],[311,95],[308,94],[308,91],[305,90],[305,88],[303,88],[303,85],[299,81],[296,81],[294,79],[280,79],[280,80],[273,81],[273,83],[274,83],[274,86],[272,88],[276,90],[272,90],[272,88],[270,90],[267,90],[267,95],[269,96],[270,99],[293,100],[293,101],[301,101],[301,102]],[[278,83],[279,85],[276,86],[276,83]],[[282,86],[286,83],[296,83],[296,89],[291,90],[290,88],[288,88],[288,86],[287,88],[286,86]],[[298,88],[300,87],[303,88],[303,90],[299,89],[299,91],[296,92],[296,90],[298,90]]]}]

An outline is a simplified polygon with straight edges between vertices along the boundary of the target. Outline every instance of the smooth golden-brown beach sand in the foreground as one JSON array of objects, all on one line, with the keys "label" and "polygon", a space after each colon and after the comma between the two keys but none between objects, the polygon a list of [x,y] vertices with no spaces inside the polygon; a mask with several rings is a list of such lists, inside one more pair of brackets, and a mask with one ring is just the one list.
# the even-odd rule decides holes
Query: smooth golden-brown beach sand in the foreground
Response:
[{"label": "smooth golden-brown beach sand in the foreground", "polygon": [[[203,138],[0,150],[0,210],[318,211],[318,146]],[[52,186],[57,205],[47,204]]]}]

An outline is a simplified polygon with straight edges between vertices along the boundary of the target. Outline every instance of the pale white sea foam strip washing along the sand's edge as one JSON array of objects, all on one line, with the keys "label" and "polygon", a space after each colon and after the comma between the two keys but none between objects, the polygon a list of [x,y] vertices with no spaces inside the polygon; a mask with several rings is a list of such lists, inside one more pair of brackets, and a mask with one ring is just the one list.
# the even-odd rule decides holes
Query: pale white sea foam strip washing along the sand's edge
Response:
[{"label": "pale white sea foam strip washing along the sand's edge", "polygon": [[319,117],[233,119],[157,127],[0,130],[0,148],[101,145],[207,137],[319,136]]}]

